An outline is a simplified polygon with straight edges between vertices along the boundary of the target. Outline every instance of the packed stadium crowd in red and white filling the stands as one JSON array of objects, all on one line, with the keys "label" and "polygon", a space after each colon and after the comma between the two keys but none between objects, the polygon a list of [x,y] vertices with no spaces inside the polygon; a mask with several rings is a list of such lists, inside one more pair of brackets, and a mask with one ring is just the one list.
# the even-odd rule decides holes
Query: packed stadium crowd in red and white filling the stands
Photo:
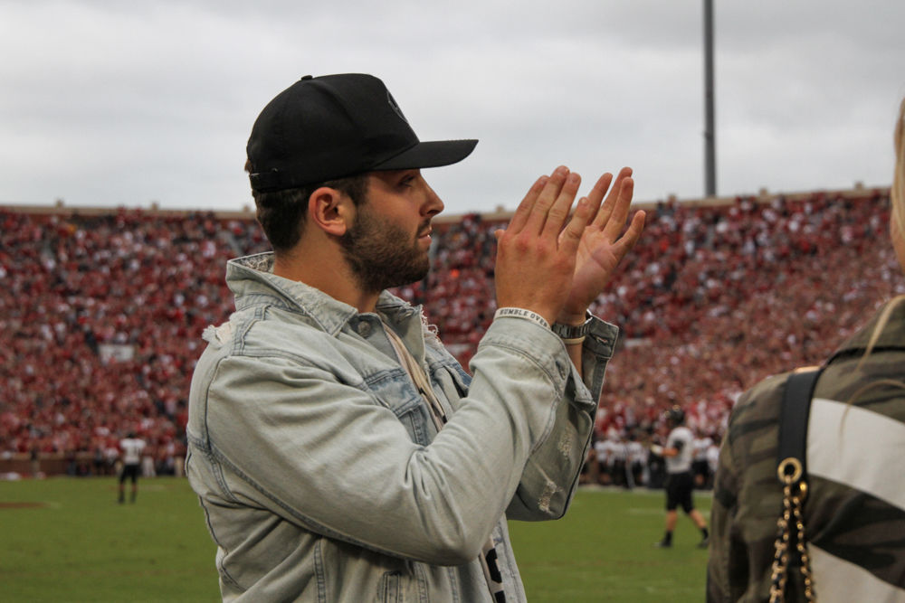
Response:
[{"label": "packed stadium crowd in red and white filling the stands", "polygon": [[[661,438],[673,404],[686,409],[702,451],[719,446],[741,391],[819,362],[881,300],[905,292],[888,213],[885,189],[649,211],[595,307],[622,339],[601,398],[594,479],[653,483],[652,459],[638,474],[624,470],[634,457],[614,469],[606,442],[627,451]],[[201,332],[233,309],[224,262],[267,249],[257,223],[0,208],[0,224],[0,455],[64,455],[73,473],[104,473],[135,431],[148,442],[148,470],[176,471]],[[463,363],[496,309],[493,231],[502,224],[477,214],[436,223],[431,274],[395,290],[424,304]]]}]

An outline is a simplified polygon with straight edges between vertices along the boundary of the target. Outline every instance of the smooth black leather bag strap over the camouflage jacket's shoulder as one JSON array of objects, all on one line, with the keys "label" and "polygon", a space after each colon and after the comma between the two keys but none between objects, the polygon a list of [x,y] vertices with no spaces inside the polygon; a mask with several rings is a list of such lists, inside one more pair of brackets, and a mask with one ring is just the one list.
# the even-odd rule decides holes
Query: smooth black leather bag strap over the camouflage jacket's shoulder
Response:
[{"label": "smooth black leather bag strap over the camouflage jacket's shoulder", "polygon": [[[779,415],[779,451],[776,455],[776,470],[780,482],[784,482],[783,474],[794,470],[795,459],[800,467],[798,482],[807,475],[805,466],[805,449],[807,448],[807,419],[811,411],[811,398],[814,385],[823,371],[823,367],[799,369],[788,376],[786,391],[783,393],[783,405]],[[785,465],[784,465],[785,464]]]}]

